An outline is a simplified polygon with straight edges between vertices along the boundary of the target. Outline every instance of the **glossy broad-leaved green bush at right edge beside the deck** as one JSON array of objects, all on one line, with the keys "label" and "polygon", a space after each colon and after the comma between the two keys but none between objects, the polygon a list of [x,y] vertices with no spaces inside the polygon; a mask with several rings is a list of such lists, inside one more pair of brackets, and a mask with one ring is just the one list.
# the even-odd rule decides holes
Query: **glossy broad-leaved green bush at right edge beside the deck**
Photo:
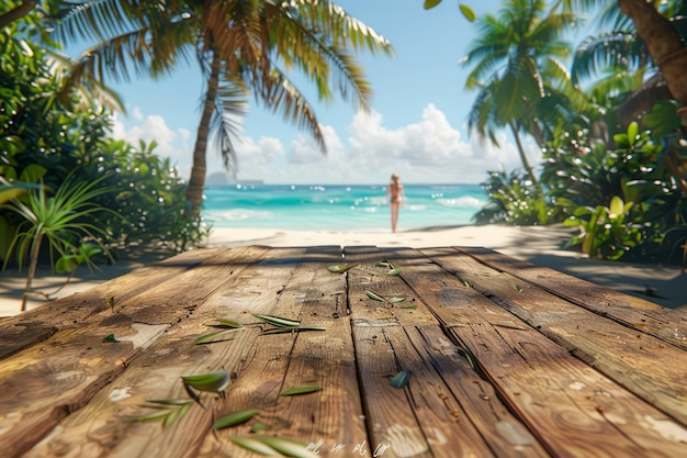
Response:
[{"label": "glossy broad-leaved green bush at right edge beside the deck", "polygon": [[[585,130],[564,132],[544,152],[542,182],[566,224],[583,231],[572,245],[594,257],[660,260],[665,231],[684,220],[684,198],[650,131],[631,123],[613,143],[607,150],[602,142],[590,145]],[[617,200],[630,204],[622,214]]]}]

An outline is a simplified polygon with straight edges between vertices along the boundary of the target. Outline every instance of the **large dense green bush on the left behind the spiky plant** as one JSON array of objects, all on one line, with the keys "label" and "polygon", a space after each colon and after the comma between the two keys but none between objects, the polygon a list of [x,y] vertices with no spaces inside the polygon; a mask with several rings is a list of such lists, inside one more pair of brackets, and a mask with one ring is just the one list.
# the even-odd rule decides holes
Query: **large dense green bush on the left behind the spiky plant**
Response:
[{"label": "large dense green bush on the left behind the spiky plant", "polygon": [[[185,185],[178,171],[153,153],[154,144],[138,150],[110,138],[106,110],[83,108],[77,92],[58,97],[60,74],[45,48],[31,42],[30,25],[18,21],[0,34],[0,193],[44,186],[50,199],[68,176],[85,183],[102,179],[100,186],[112,190],[91,196],[89,203],[111,211],[99,213],[95,223],[105,231],[98,234],[103,246],[160,242],[180,250],[201,243],[207,227],[183,217]],[[24,222],[21,213],[0,209],[5,265],[24,262],[18,253],[8,254],[7,243]],[[42,252],[41,261],[50,261],[54,253]],[[81,259],[78,252],[71,256]]]}]

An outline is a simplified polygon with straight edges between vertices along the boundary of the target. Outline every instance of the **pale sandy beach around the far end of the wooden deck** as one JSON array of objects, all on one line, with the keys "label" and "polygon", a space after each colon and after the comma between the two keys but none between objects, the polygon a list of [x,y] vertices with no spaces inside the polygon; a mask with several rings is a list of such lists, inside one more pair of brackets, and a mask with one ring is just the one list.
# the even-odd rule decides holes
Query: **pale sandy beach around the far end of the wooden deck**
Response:
[{"label": "pale sandy beach around the far end of the wooden deck", "polygon": [[[443,246],[480,246],[538,266],[544,266],[596,284],[643,298],[660,305],[687,311],[687,276],[677,266],[611,262],[586,258],[578,252],[562,249],[574,228],[555,226],[459,225],[431,226],[412,231],[294,231],[278,228],[213,228],[206,247],[263,245],[273,247],[338,245],[429,248]],[[145,250],[113,265],[90,271],[79,268],[59,291],[64,276],[38,269],[33,289],[48,294],[33,294],[27,308],[34,309],[109,279],[157,262],[169,253]],[[4,271],[0,278],[0,317],[20,313],[25,276]]]}]

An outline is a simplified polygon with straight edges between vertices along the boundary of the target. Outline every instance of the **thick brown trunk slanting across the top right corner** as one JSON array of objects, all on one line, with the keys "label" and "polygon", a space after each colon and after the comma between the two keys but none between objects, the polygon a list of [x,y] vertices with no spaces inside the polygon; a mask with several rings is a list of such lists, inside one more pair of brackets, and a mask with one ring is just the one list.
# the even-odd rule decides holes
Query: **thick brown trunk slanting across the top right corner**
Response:
[{"label": "thick brown trunk slanting across the top right corner", "polygon": [[637,33],[646,43],[649,54],[661,69],[673,97],[687,107],[687,49],[679,33],[653,2],[645,0],[617,0],[620,10],[632,21]]}]

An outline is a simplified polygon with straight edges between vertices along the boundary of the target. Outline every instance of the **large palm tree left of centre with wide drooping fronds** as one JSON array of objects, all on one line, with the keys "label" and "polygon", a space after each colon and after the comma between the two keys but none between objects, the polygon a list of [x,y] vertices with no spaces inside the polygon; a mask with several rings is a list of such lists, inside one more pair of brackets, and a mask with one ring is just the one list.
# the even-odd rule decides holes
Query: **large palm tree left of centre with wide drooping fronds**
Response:
[{"label": "large palm tree left of centre with wide drooping fronds", "polygon": [[351,52],[392,54],[391,44],[372,29],[327,0],[102,0],[77,8],[58,31],[63,38],[95,37],[100,43],[79,59],[72,81],[82,78],[128,78],[133,67],[157,77],[171,72],[179,60],[196,58],[205,93],[187,191],[187,214],[200,215],[205,158],[211,132],[225,166],[236,166],[232,139],[235,115],[245,99],[258,102],[314,135],[324,137],[315,112],[289,71],[300,70],[320,99],[344,97],[369,109],[372,93]]}]

